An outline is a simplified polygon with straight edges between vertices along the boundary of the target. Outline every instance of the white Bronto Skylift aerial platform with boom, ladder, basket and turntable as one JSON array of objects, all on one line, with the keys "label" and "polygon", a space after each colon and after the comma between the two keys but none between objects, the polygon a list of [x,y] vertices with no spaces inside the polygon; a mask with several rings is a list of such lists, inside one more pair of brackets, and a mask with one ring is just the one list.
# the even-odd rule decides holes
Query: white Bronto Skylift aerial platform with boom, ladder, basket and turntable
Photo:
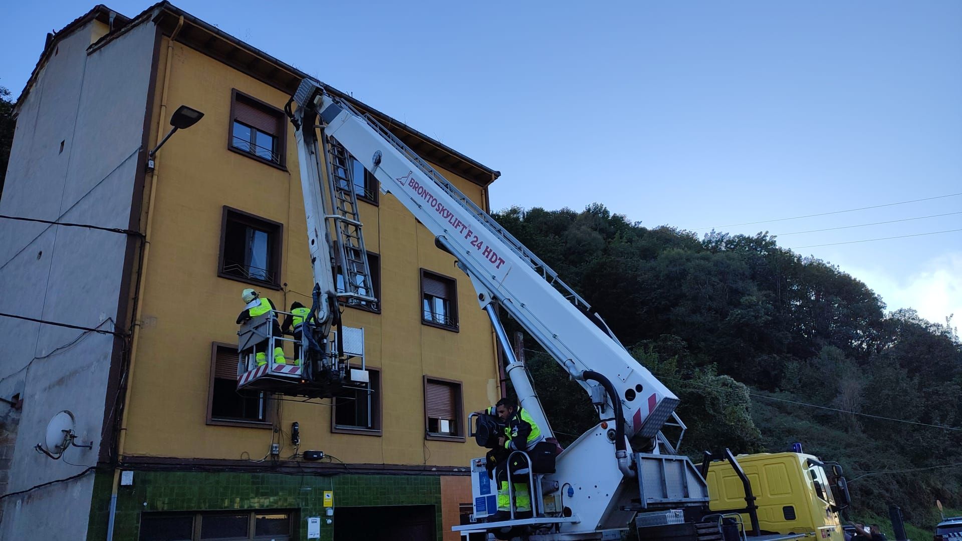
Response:
[{"label": "white Bronto Skylift aerial platform with boom, ladder, basket and turntable", "polygon": [[[550,425],[524,365],[513,354],[501,311],[584,388],[598,414],[597,425],[557,455],[553,472],[529,466],[515,473],[528,481],[529,518],[516,517],[512,508],[510,520],[482,522],[495,511],[494,483],[484,482],[484,460],[472,460],[472,516],[478,522],[454,529],[472,539],[487,539],[489,533],[544,541],[610,539],[618,538],[639,513],[656,525],[703,519],[710,500],[708,461],[699,470],[675,451],[678,442],[672,444],[662,432],[666,425],[684,430],[674,413],[678,398],[621,346],[588,302],[376,119],[323,84],[303,80],[286,111],[295,128],[316,282],[298,345],[303,362],[275,364],[267,355],[266,364],[258,367],[253,348],[265,343],[273,348],[282,339],[269,330],[276,314],[255,318],[239,333],[239,389],[326,398],[343,387],[367,384],[363,330],[340,321],[343,304],[375,300],[354,193],[353,157],[468,275],[507,358],[506,373],[519,404],[544,436],[552,437]],[[335,263],[340,271],[333,269]],[[360,369],[351,368],[354,357],[361,358]],[[751,489],[745,482],[747,497]],[[753,511],[751,507],[748,502],[742,510]],[[756,522],[752,520],[757,534]]]}]

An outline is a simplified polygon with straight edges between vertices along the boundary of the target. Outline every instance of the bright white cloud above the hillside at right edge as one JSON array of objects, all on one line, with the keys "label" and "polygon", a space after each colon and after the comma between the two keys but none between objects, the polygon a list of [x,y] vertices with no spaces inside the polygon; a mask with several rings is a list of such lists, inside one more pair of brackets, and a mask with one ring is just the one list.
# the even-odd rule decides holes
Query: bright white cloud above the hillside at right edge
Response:
[{"label": "bright white cloud above the hillside at right edge", "polygon": [[921,262],[907,276],[896,276],[884,269],[842,270],[865,282],[882,297],[887,311],[914,308],[929,322],[945,323],[955,314],[952,326],[962,322],[962,251],[949,252]]}]

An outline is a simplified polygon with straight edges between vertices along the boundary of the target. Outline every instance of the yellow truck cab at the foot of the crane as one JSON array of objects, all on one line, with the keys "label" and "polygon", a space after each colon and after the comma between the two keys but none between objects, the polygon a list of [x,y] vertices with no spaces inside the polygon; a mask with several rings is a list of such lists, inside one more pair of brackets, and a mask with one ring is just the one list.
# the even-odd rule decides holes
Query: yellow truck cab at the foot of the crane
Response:
[{"label": "yellow truck cab at the foot of the crane", "polygon": [[[838,511],[848,506],[848,489],[837,464],[801,452],[741,454],[735,460],[750,482],[762,533],[808,533],[820,541],[845,541]],[[829,477],[834,482],[829,483]],[[747,510],[745,484],[731,461],[709,462],[705,480],[710,511]],[[836,496],[842,502],[837,503]],[[740,514],[748,528],[748,513]]]}]

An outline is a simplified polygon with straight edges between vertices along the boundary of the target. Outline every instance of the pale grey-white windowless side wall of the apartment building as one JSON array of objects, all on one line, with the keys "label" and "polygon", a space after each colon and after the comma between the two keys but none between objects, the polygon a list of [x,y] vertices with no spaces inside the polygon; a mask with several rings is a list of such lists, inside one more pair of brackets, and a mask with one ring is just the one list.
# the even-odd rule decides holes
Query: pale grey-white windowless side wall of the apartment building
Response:
[{"label": "pale grey-white windowless side wall of the apartment building", "polygon": [[[128,227],[138,155],[146,151],[139,144],[154,25],[88,54],[90,24],[59,41],[20,106],[0,214]],[[4,220],[0,312],[125,330],[128,322],[112,320],[127,295],[120,291],[126,244],[123,234]],[[0,388],[21,389],[23,398],[7,492],[95,465],[118,339],[6,317],[0,336]],[[34,446],[63,409],[93,449],[72,448],[55,461]],[[86,538],[92,487],[91,472],[4,499],[0,538]]]}]

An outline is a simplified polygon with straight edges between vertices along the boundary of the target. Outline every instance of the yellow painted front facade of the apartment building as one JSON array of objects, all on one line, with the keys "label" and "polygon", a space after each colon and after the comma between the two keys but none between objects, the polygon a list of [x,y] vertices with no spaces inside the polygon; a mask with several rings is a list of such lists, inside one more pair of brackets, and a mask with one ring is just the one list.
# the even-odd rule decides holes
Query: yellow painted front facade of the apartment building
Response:
[{"label": "yellow painted front facade of the apartment building", "polygon": [[[151,145],[180,104],[205,116],[165,144],[157,157],[156,193],[145,193],[143,208],[153,197],[154,217],[122,452],[257,459],[269,449],[271,430],[207,424],[212,343],[237,343],[241,290],[252,287],[217,276],[223,206],[284,226],[280,282],[288,284],[287,291],[255,289],[286,308],[293,300],[310,304],[301,294],[310,294],[313,280],[293,130],[289,124],[286,171],[228,150],[231,92],[277,108],[289,96],[175,42],[162,118],[167,46],[165,37]],[[484,206],[484,188],[437,168]],[[148,175],[145,192],[149,187]],[[343,319],[364,327],[367,364],[381,370],[382,435],[332,433],[328,406],[291,401],[277,402],[277,425],[287,431],[297,422],[301,450],[325,451],[347,463],[466,466],[482,454],[471,440],[425,440],[423,375],[460,380],[466,412],[493,403],[499,391],[491,324],[453,257],[435,247],[433,236],[392,195],[382,194],[379,206],[360,206],[367,249],[381,258],[382,310],[347,308]],[[457,278],[460,332],[421,323],[420,268]],[[288,442],[281,454],[291,453]]]}]

